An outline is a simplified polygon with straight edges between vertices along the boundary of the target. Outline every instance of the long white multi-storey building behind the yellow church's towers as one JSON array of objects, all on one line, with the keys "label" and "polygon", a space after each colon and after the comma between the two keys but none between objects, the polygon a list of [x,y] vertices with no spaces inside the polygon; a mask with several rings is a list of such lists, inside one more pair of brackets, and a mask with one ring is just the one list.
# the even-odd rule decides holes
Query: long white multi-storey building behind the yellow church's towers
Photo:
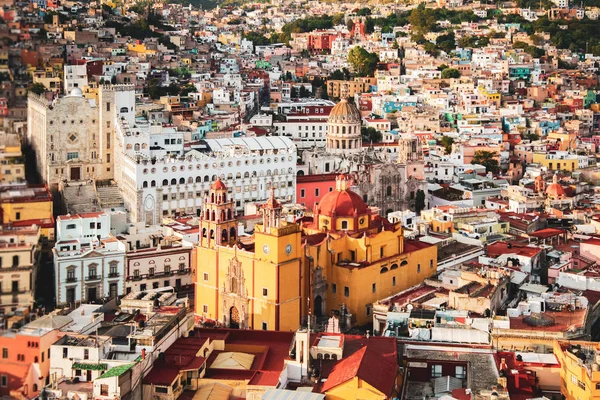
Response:
[{"label": "long white multi-storey building behind the yellow church's towers", "polygon": [[163,216],[198,214],[210,184],[226,182],[238,212],[246,202],[295,201],[296,146],[285,137],[201,140],[191,148],[183,132],[146,120],[117,126],[115,180],[132,222],[154,225]]}]

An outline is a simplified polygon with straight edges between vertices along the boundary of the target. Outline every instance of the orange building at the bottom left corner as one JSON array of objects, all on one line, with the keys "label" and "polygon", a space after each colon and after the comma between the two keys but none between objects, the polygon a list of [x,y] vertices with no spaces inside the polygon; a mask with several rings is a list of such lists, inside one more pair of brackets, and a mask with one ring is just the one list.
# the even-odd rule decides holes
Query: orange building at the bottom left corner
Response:
[{"label": "orange building at the bottom left corner", "polygon": [[0,396],[31,399],[50,382],[50,346],[69,325],[68,316],[46,315],[0,335]]}]

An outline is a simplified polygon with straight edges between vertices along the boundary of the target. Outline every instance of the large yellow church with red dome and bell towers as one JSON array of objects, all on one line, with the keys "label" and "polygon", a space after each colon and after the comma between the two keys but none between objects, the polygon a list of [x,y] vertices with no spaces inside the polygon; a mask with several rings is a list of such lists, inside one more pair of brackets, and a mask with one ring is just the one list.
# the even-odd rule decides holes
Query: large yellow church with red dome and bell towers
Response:
[{"label": "large yellow church with red dome and bell towers", "polygon": [[363,325],[373,302],[434,275],[437,247],[406,240],[349,186],[340,175],[313,215],[296,222],[282,219],[271,193],[253,236],[237,238],[234,203],[220,179],[213,183],[201,213],[196,314],[226,327],[295,331],[310,307]]}]

